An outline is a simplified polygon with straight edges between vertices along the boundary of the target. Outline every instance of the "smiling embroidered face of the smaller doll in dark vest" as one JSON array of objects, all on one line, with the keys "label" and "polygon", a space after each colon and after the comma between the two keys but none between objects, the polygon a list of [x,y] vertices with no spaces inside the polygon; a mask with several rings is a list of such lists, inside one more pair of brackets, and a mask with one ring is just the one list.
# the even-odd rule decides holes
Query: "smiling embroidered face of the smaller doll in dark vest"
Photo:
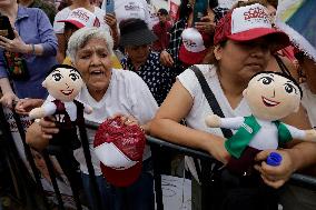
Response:
[{"label": "smiling embroidered face of the smaller doll in dark vest", "polygon": [[55,69],[42,82],[50,96],[65,102],[72,101],[82,84],[80,73],[72,68],[65,67]]}]

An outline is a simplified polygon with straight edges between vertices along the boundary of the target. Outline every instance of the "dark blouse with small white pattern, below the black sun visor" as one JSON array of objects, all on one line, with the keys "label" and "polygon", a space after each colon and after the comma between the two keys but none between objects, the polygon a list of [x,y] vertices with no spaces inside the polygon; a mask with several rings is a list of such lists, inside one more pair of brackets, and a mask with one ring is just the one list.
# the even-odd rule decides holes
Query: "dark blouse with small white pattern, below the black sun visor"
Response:
[{"label": "dark blouse with small white pattern, below the black sun visor", "polygon": [[138,70],[136,70],[128,57],[121,60],[121,66],[126,70],[136,72],[147,83],[150,92],[160,106],[167,97],[172,83],[174,76],[170,69],[160,64],[159,53],[150,52],[147,61]]}]

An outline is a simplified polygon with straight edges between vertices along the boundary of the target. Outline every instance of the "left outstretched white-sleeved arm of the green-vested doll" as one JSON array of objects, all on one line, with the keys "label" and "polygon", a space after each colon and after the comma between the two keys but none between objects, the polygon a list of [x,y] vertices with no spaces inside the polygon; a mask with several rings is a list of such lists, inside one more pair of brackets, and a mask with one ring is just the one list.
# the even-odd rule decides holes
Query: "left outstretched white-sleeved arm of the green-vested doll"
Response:
[{"label": "left outstretched white-sleeved arm of the green-vested doll", "polygon": [[217,114],[209,114],[206,117],[206,124],[210,128],[226,128],[226,129],[239,129],[244,123],[243,117],[236,118],[220,118]]}]

